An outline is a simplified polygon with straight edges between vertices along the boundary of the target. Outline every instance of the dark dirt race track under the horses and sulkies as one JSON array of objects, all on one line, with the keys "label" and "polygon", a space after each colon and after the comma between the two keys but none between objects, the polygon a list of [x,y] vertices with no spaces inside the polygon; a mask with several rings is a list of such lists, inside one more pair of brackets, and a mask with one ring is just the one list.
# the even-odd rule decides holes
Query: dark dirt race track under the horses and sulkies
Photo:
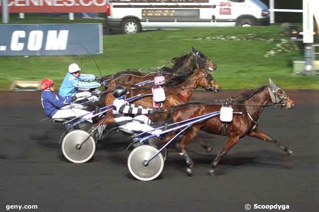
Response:
[{"label": "dark dirt race track under the horses and sulkies", "polygon": [[[200,91],[191,100],[235,93]],[[26,212],[244,212],[246,204],[253,212],[270,211],[254,209],[255,204],[318,212],[319,92],[287,93],[295,107],[266,108],[259,128],[294,155],[245,137],[221,160],[218,174],[210,176],[210,163],[226,137],[201,133],[215,151],[209,154],[198,143],[189,144],[192,177],[186,176],[182,156],[170,149],[160,177],[141,182],[127,168],[126,137],[118,134],[100,142],[89,163],[69,163],[58,145],[61,124],[39,124],[45,118],[40,93],[0,92],[0,212],[7,205],[37,205],[36,210],[21,210]]]}]

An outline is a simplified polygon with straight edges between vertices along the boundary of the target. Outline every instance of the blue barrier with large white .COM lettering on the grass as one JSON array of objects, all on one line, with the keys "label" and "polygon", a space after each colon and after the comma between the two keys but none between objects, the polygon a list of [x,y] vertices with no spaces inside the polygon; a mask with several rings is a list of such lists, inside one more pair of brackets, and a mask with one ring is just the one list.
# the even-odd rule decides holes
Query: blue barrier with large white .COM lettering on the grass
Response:
[{"label": "blue barrier with large white .COM lettering on the grass", "polygon": [[0,56],[103,53],[102,24],[0,24]]}]

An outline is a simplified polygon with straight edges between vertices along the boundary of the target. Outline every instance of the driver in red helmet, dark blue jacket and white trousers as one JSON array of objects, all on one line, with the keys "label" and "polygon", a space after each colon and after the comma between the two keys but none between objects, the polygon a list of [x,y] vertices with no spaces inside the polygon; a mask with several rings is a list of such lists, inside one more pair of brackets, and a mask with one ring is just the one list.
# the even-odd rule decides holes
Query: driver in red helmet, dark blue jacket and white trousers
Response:
[{"label": "driver in red helmet, dark blue jacket and white trousers", "polygon": [[[87,111],[72,108],[70,103],[77,99],[76,96],[61,97],[54,93],[54,82],[52,79],[44,79],[41,82],[41,104],[44,112],[49,118],[70,118],[88,114]],[[89,115],[87,115],[88,117]],[[88,121],[92,121],[89,119]]]}]

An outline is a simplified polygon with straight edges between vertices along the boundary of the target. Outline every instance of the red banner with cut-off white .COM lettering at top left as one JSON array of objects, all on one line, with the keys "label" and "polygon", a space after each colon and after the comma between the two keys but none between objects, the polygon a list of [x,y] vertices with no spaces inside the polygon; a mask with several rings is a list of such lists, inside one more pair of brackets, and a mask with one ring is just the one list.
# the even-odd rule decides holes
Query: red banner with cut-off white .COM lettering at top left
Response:
[{"label": "red banner with cut-off white .COM lettering at top left", "polygon": [[[10,13],[106,12],[107,0],[8,0]],[[0,0],[0,13],[2,11]]]}]

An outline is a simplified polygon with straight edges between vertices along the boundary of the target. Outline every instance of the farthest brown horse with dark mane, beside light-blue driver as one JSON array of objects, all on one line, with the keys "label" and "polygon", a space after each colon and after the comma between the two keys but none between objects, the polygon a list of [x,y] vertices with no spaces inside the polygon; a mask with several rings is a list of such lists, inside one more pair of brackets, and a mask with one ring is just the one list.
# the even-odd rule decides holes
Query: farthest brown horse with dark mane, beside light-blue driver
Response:
[{"label": "farthest brown horse with dark mane, beside light-blue driver", "polygon": [[217,66],[205,54],[193,47],[187,54],[175,57],[171,59],[170,62],[174,63],[174,66],[171,69],[168,67],[162,67],[159,71],[153,72],[121,71],[112,75],[103,76],[101,81],[104,82],[104,85],[116,83],[120,85],[133,86],[137,83],[153,80],[158,72],[164,75],[166,79],[170,79],[175,76],[190,75],[198,68],[198,65],[205,67],[208,71],[214,71],[217,68]]}]

